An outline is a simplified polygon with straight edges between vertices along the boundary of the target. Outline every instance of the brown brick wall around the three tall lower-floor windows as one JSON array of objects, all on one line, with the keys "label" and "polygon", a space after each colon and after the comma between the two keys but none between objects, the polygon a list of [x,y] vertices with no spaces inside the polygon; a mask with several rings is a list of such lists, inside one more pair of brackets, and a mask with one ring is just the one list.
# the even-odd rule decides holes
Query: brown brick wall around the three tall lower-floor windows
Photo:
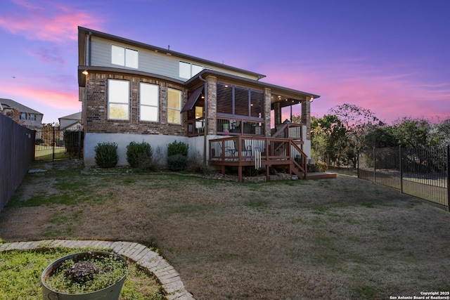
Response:
[{"label": "brown brick wall around the three tall lower-floor windows", "polygon": [[[129,120],[108,119],[108,79],[129,81]],[[139,120],[139,83],[158,84],[160,86],[159,122]],[[136,133],[186,136],[186,115],[181,114],[181,125],[167,124],[167,89],[182,91],[181,108],[187,101],[188,90],[169,81],[139,77],[129,74],[105,74],[89,72],[86,78],[86,91],[83,98],[84,130],[87,133]]]}]

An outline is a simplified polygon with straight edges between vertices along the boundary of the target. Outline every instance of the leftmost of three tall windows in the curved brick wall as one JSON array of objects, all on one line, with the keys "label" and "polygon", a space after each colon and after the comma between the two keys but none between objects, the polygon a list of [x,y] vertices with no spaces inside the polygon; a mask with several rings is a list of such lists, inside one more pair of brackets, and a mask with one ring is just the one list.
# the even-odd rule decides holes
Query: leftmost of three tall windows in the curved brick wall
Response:
[{"label": "leftmost of three tall windows in the curved brick wall", "polygon": [[129,81],[108,79],[108,119],[129,119]]}]

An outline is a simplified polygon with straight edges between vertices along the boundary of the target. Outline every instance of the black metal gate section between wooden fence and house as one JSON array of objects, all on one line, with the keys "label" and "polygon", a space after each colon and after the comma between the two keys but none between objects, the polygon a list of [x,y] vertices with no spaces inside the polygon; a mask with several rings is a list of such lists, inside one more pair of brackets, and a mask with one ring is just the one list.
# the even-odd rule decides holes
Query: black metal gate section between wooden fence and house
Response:
[{"label": "black metal gate section between wooden fence and house", "polygon": [[83,157],[83,131],[46,126],[36,131],[34,162],[55,162]]}]

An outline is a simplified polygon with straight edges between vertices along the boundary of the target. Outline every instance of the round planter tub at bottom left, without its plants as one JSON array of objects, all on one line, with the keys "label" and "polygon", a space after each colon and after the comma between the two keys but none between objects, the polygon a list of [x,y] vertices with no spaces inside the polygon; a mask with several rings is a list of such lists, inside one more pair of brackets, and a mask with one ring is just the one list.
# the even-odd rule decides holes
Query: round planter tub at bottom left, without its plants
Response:
[{"label": "round planter tub at bottom left, without its plants", "polygon": [[[115,256],[115,259],[120,260],[124,263],[124,268],[126,271],[122,278],[117,280],[108,287],[104,287],[103,289],[98,289],[94,292],[86,292],[84,294],[66,294],[64,292],[58,292],[49,287],[47,281],[48,279],[56,273],[56,270],[62,266],[64,261],[72,259],[75,263],[80,263],[86,261],[86,259],[102,259],[102,257]],[[79,265],[82,265],[80,263]],[[76,254],[71,254],[68,256],[64,256],[57,261],[51,263],[42,273],[41,275],[41,285],[42,285],[42,299],[44,300],[117,300],[120,296],[120,290],[124,285],[125,278],[127,277],[127,261],[120,255],[115,254],[113,252],[101,252],[101,251],[92,251],[92,252],[79,252]],[[89,280],[89,279],[88,279]]]}]

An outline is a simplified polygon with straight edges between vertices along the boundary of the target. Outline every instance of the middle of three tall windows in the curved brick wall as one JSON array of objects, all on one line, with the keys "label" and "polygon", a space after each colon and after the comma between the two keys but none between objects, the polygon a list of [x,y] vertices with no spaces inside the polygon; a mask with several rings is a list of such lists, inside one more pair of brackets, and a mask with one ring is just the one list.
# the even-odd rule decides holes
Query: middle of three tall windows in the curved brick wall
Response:
[{"label": "middle of three tall windows in the curved brick wall", "polygon": [[141,121],[158,122],[158,103],[160,87],[156,84],[139,84],[139,102]]}]

